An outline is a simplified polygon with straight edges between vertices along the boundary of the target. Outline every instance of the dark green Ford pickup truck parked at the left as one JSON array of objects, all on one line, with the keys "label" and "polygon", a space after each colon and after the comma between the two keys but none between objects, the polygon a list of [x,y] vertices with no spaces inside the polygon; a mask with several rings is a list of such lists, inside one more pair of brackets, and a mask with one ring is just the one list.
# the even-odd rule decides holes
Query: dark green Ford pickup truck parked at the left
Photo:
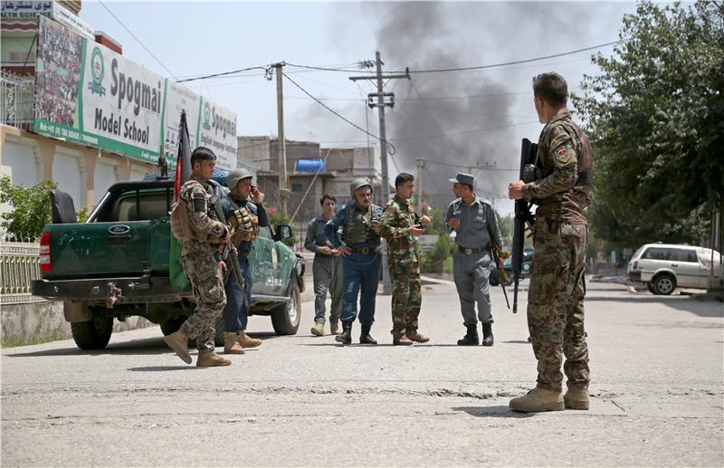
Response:
[{"label": "dark green Ford pickup truck parked at the left", "polygon": [[[77,223],[71,197],[53,193],[53,219],[41,236],[41,279],[33,281],[33,294],[63,301],[79,348],[104,349],[114,319],[145,317],[169,334],[194,313],[193,291],[169,282],[173,196],[174,181],[167,178],[119,182],[85,223]],[[299,329],[304,291],[304,260],[283,244],[288,238],[287,225],[262,227],[249,255],[250,315],[271,316],[278,335]],[[220,317],[217,344],[222,335]]]}]

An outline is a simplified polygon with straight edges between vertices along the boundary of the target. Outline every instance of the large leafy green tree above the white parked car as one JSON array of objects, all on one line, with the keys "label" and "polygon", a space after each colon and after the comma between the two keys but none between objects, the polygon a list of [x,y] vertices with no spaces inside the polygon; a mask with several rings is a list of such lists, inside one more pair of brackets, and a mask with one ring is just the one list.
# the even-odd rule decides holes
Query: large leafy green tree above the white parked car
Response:
[{"label": "large leafy green tree above the white parked car", "polygon": [[624,247],[695,243],[724,191],[724,6],[642,3],[580,96],[595,154],[592,227]]}]

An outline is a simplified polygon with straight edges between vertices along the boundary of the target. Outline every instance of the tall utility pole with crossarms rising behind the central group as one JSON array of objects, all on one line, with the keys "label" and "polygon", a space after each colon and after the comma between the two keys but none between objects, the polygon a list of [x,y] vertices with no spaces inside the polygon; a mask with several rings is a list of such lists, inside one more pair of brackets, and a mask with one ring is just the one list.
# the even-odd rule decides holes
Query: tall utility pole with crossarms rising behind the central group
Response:
[{"label": "tall utility pole with crossarms rising behind the central group", "polygon": [[[395,93],[385,92],[383,80],[397,80],[401,78],[410,79],[409,69],[405,69],[405,74],[390,74],[386,75],[382,72],[382,62],[379,51],[375,53],[376,62],[376,75],[369,76],[350,76],[351,81],[357,80],[376,80],[377,81],[377,92],[370,92],[367,94],[367,105],[370,108],[377,108],[379,111],[379,162],[382,167],[382,205],[386,205],[390,198],[390,179],[389,172],[387,171],[387,129],[385,125],[385,108],[395,107]],[[376,100],[375,100],[376,98]],[[389,98],[389,100],[386,100]],[[387,263],[387,249],[385,248],[382,252],[382,264]],[[386,268],[382,268],[382,293],[390,294],[390,273]]]}]

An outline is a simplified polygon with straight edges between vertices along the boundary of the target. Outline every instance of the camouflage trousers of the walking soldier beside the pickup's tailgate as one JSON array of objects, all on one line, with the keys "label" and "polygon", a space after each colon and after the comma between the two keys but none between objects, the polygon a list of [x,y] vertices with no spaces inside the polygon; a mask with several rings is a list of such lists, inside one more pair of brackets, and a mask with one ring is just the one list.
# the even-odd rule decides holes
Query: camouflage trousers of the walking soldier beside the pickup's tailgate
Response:
[{"label": "camouflage trousers of the walking soldier beside the pickup's tailgate", "polygon": [[214,324],[226,305],[224,281],[219,265],[214,260],[214,250],[194,250],[181,255],[184,271],[194,288],[196,310],[180,331],[188,338],[196,339],[200,351],[214,350]]}]

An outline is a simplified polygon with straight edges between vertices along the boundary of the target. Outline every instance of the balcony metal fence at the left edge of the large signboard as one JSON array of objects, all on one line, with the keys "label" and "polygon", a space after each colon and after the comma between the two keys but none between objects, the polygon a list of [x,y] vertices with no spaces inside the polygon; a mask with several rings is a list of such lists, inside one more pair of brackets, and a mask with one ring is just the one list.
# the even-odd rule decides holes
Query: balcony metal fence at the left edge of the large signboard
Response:
[{"label": "balcony metal fence at the left edge of the large signboard", "polygon": [[33,77],[0,72],[0,121],[17,129],[33,126]]}]

